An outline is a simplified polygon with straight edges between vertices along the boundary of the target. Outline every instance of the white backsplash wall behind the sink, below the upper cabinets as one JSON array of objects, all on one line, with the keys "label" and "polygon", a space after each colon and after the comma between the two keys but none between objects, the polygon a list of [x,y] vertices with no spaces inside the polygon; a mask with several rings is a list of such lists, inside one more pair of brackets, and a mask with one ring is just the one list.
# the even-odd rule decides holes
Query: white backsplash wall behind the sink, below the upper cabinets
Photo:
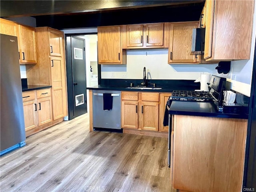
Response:
[{"label": "white backsplash wall behind the sink, below the upper cabinets", "polygon": [[200,74],[212,74],[217,64],[168,64],[168,49],[127,50],[126,65],[101,65],[102,78],[195,80]]}]

